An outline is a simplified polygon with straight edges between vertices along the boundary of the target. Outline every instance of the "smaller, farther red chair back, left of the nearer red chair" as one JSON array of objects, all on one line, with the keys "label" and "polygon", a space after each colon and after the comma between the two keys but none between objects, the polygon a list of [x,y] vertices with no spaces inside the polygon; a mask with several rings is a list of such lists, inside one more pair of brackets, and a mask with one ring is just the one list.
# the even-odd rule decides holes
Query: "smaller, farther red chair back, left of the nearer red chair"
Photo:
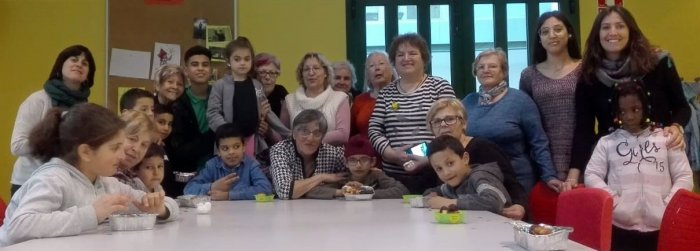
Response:
[{"label": "smaller, farther red chair back, left of the nearer red chair", "polygon": [[557,217],[557,198],[559,193],[544,182],[537,182],[530,191],[528,215],[532,223],[554,225]]}]

